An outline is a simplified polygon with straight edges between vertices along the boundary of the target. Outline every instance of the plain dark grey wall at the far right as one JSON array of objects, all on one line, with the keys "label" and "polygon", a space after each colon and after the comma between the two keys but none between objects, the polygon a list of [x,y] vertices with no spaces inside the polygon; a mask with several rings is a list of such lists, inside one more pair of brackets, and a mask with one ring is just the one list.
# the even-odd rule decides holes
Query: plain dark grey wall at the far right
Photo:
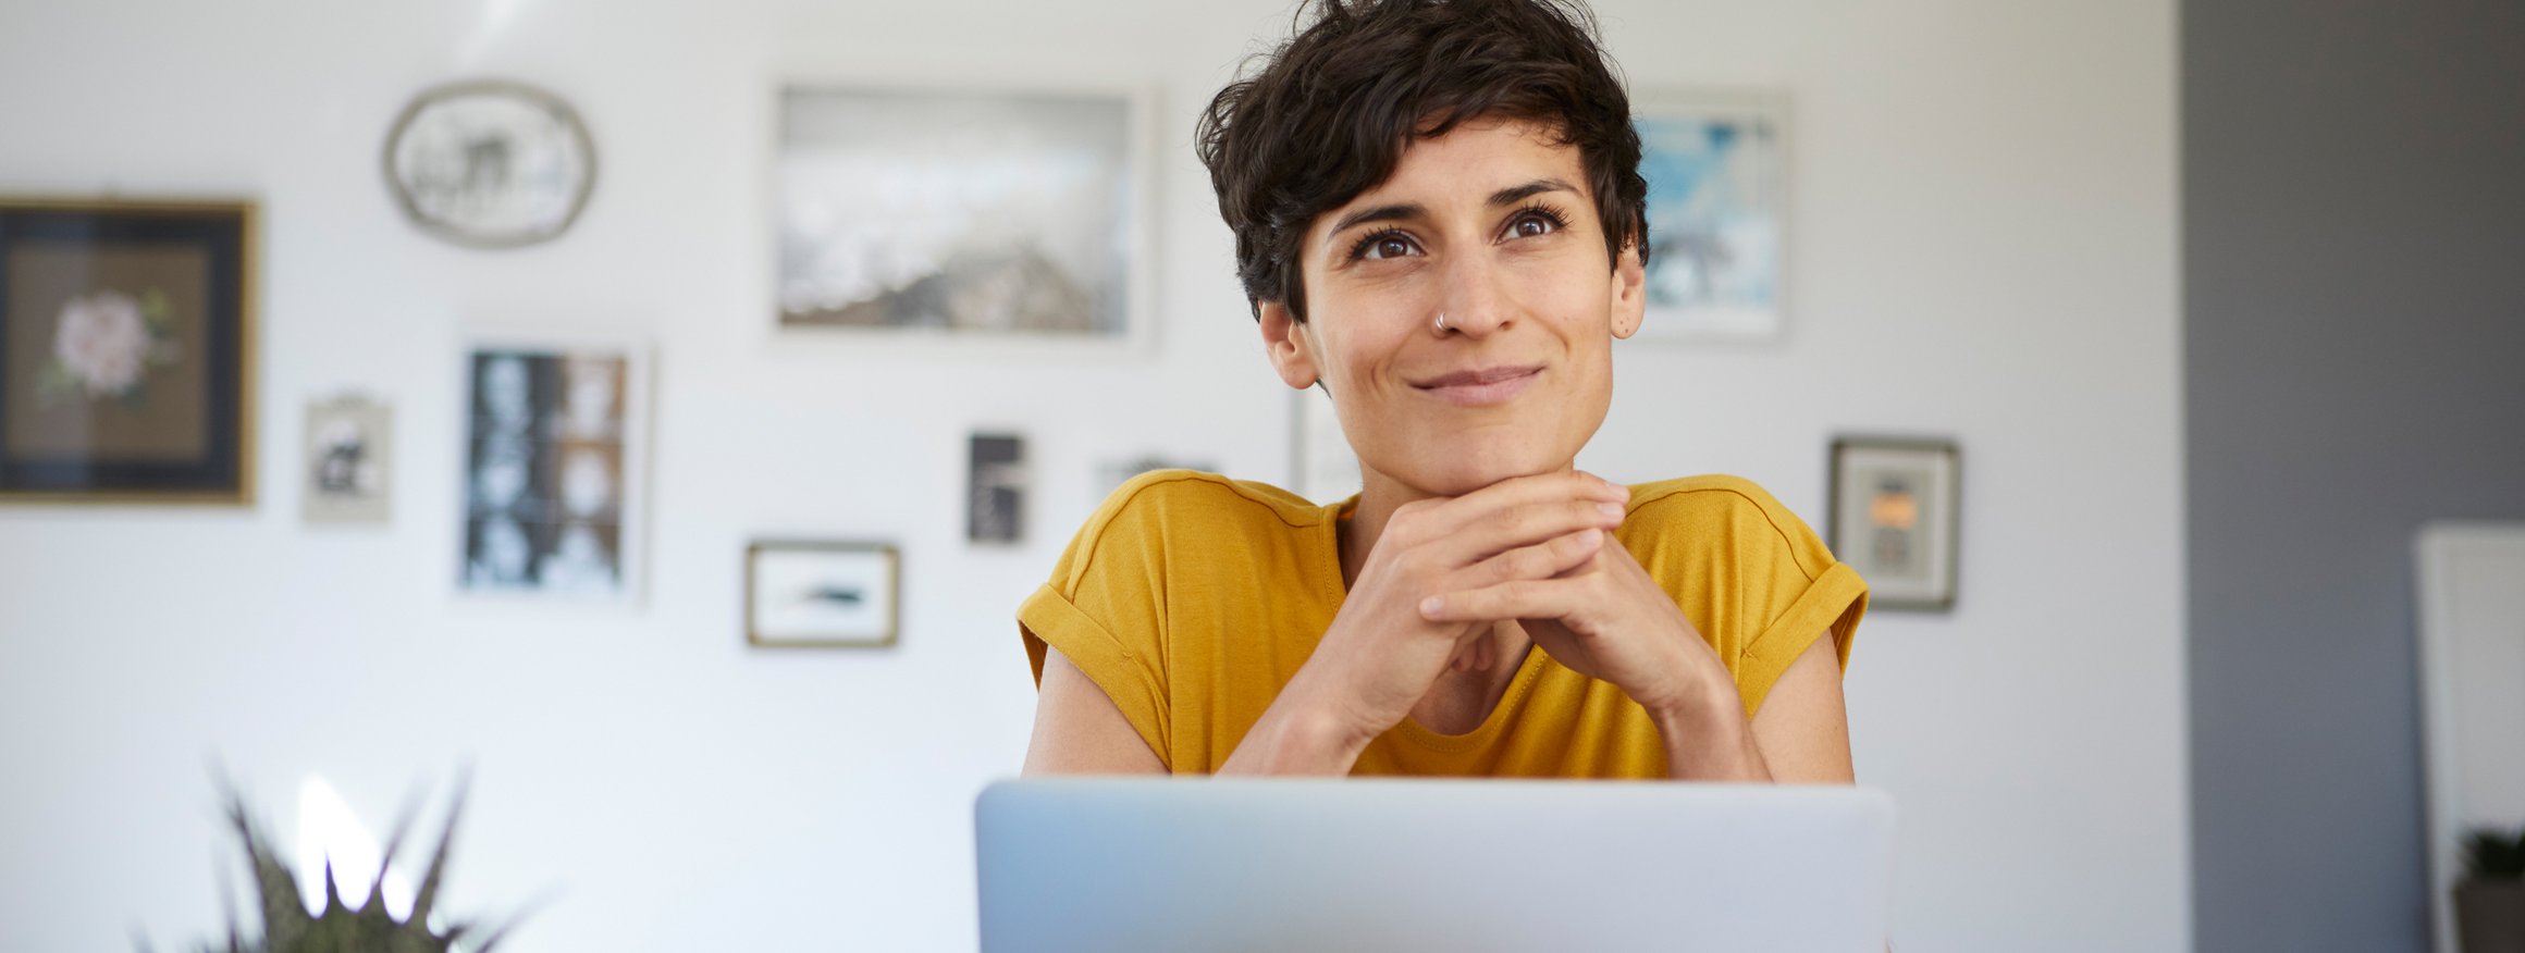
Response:
[{"label": "plain dark grey wall at the far right", "polygon": [[2184,5],[2202,950],[2424,950],[2411,547],[2525,519],[2525,8]]}]

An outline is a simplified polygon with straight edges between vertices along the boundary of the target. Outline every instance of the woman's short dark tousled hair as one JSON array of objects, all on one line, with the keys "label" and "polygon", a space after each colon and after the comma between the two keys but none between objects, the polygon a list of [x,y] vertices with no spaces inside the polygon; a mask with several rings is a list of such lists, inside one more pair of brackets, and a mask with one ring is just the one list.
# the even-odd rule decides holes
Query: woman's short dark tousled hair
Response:
[{"label": "woman's short dark tousled hair", "polygon": [[[1313,10],[1313,23],[1303,18]],[[1237,234],[1245,300],[1305,320],[1305,227],[1394,174],[1404,146],[1515,118],[1578,146],[1606,255],[1649,257],[1631,98],[1573,0],[1313,0],[1257,73],[1202,111],[1197,151]]]}]

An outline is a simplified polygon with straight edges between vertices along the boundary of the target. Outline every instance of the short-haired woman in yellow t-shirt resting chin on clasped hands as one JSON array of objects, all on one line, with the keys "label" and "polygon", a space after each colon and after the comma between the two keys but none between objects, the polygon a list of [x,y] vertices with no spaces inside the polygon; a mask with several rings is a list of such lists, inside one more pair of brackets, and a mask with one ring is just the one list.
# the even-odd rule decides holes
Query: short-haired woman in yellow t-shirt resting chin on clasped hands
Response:
[{"label": "short-haired woman in yellow t-shirt resting chin on clasped hands", "polygon": [[1573,469],[1649,255],[1583,10],[1321,0],[1199,151],[1270,363],[1331,393],[1364,489],[1114,492],[1018,613],[1028,774],[1851,782],[1866,582],[1750,482]]}]

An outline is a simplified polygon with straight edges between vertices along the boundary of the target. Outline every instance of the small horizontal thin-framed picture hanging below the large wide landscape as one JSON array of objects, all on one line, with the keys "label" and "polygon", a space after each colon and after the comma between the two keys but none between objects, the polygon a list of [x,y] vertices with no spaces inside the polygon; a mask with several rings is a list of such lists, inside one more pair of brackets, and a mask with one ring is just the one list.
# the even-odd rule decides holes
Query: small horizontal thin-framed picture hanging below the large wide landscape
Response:
[{"label": "small horizontal thin-framed picture hanging below the large wide landscape", "polygon": [[901,552],[884,542],[755,542],[745,547],[745,643],[894,645],[901,585]]}]

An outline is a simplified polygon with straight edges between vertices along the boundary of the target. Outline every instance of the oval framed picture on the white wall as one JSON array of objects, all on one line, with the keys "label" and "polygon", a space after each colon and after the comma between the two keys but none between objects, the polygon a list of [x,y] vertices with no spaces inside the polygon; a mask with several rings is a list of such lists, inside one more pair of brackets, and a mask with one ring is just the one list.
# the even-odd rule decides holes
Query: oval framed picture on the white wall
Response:
[{"label": "oval framed picture on the white wall", "polygon": [[520,247],[568,232],[596,187],[596,144],[561,96],[513,81],[422,91],[386,134],[386,187],[424,232]]}]

